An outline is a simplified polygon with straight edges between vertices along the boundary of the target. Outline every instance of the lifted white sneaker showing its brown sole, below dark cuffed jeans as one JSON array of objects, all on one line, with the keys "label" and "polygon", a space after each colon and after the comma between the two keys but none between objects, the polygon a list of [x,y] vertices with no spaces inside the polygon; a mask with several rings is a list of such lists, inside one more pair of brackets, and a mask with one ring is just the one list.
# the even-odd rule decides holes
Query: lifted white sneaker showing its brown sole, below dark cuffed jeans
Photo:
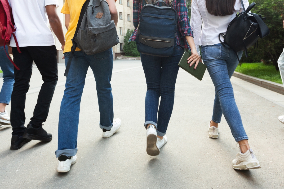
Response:
[{"label": "lifted white sneaker showing its brown sole, below dark cuffed jeans", "polygon": [[146,152],[150,156],[157,156],[160,154],[160,148],[158,145],[158,137],[157,137],[157,131],[155,126],[150,125],[146,132],[147,136],[147,148]]}]

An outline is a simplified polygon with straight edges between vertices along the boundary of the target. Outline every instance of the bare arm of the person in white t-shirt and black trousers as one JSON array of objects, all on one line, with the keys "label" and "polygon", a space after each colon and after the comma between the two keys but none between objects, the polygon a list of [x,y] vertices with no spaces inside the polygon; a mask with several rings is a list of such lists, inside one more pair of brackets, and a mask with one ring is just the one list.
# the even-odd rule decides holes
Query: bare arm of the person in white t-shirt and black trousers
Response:
[{"label": "bare arm of the person in white t-shirt and black trousers", "polygon": [[56,5],[47,5],[45,6],[45,10],[48,16],[50,27],[61,43],[62,50],[64,50],[65,38],[60,19],[56,12]]}]

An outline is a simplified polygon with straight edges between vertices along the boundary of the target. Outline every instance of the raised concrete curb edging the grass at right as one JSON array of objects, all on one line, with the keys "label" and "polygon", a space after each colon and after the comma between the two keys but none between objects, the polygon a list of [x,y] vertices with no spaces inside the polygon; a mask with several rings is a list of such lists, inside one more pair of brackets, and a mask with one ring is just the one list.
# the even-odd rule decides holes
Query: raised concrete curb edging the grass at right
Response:
[{"label": "raised concrete curb edging the grass at right", "polygon": [[252,77],[236,71],[233,73],[233,76],[284,95],[284,88],[282,84],[260,79],[257,77]]}]

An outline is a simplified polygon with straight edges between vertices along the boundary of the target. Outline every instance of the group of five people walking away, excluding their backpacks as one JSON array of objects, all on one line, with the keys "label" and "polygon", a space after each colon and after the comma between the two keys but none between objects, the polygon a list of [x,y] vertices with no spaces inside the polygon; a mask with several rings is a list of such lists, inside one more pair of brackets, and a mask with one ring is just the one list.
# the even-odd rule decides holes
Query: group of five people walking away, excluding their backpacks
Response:
[{"label": "group of five people walking away, excluding their backpacks", "polygon": [[[48,22],[62,45],[65,63],[67,64],[72,47],[71,39],[74,36],[84,2],[85,0],[65,0],[61,12],[65,14],[65,26],[68,31],[64,37],[62,24],[56,12],[57,0],[9,0],[16,27],[15,35],[21,51],[21,53],[18,52],[14,40],[11,39],[9,46],[12,47],[12,52],[9,53],[13,54],[14,63],[20,68],[20,70],[17,70],[12,68],[12,63],[5,57],[4,47],[0,48],[0,66],[4,73],[4,84],[0,93],[0,123],[10,124],[5,106],[9,104],[9,95],[12,93],[11,125],[13,132],[11,150],[17,150],[31,140],[51,141],[52,139],[52,135],[42,127],[42,123],[46,121],[58,80],[57,52]],[[111,20],[114,20],[116,25],[118,22],[116,1],[106,0],[106,2],[109,6]],[[153,0],[133,0],[135,30],[129,41],[136,41],[142,7],[154,2]],[[247,8],[249,6],[248,0],[243,2],[245,8]],[[161,6],[161,3],[158,2],[156,5]],[[238,58],[241,59],[243,52],[235,54],[233,50],[222,45],[218,39],[219,33],[226,32],[227,26],[233,20],[235,14],[243,11],[240,0],[192,0],[190,22],[185,0],[165,0],[165,3],[178,13],[177,46],[174,54],[170,57],[141,54],[147,83],[144,123],[147,130],[147,154],[158,155],[160,148],[167,142],[166,130],[174,105],[178,63],[184,49],[191,50],[191,56],[188,58],[189,66],[197,67],[199,61],[201,61],[199,49],[199,46],[201,46],[202,60],[207,66],[216,93],[212,119],[208,124],[208,136],[210,138],[219,137],[218,124],[221,122],[222,114],[224,114],[232,135],[240,148],[232,162],[233,168],[260,168],[260,163],[249,146],[249,138],[244,130],[230,82],[230,78],[239,63]],[[24,108],[33,61],[42,75],[43,85],[38,95],[34,116],[25,127]],[[103,130],[102,136],[111,137],[120,128],[121,120],[119,118],[114,119],[113,112],[110,84],[112,66],[112,48],[94,55],[87,55],[76,48],[66,77],[64,96],[60,105],[58,149],[55,151],[58,158],[58,172],[68,172],[70,166],[76,162],[80,102],[89,67],[93,71],[96,82],[100,112],[99,127]],[[14,86],[12,86],[13,83]]]}]

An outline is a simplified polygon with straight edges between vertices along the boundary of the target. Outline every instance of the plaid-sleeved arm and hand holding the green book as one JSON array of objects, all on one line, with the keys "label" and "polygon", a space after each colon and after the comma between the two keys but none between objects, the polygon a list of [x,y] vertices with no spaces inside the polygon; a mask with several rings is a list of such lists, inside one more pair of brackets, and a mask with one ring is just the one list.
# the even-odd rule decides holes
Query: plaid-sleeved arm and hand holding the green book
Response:
[{"label": "plaid-sleeved arm and hand holding the green book", "polygon": [[194,63],[196,69],[198,63],[199,63],[199,54],[197,53],[197,50],[195,48],[195,44],[193,41],[193,32],[191,30],[190,24],[189,24],[189,18],[187,15],[187,7],[185,4],[185,0],[179,1],[177,4],[177,10],[178,10],[178,28],[183,37],[185,37],[187,43],[189,44],[191,48],[191,56],[187,59],[188,63],[190,63],[189,66],[192,66]]}]

